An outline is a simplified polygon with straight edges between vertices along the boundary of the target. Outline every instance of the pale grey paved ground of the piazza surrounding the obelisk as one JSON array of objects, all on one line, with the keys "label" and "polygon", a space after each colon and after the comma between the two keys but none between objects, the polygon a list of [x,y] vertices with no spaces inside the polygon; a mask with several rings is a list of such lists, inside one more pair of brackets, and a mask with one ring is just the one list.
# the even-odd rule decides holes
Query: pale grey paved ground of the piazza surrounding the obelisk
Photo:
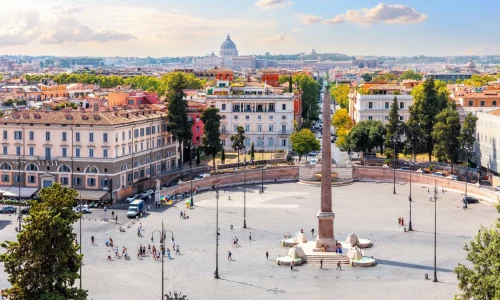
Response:
[{"label": "pale grey paved ground of the piazza surrounding the obelisk", "polygon": [[[243,229],[243,189],[236,187],[220,192],[219,273],[215,280],[215,193],[195,195],[195,208],[186,210],[184,202],[168,209],[152,209],[140,222],[143,237],[137,236],[138,223],[127,232],[125,206],[115,209],[118,225],[101,221],[102,210],[85,215],[83,230],[83,288],[90,299],[160,299],[161,262],[145,257],[136,259],[140,244],[150,243],[153,230],[172,230],[181,255],[172,252],[165,261],[165,289],[181,290],[189,299],[452,299],[458,291],[453,268],[465,262],[465,242],[477,233],[480,224],[490,225],[498,214],[491,205],[470,204],[463,210],[460,196],[439,193],[438,214],[438,279],[425,280],[433,274],[434,259],[434,203],[429,201],[427,188],[413,185],[412,233],[398,226],[398,217],[408,219],[408,185],[398,185],[398,194],[392,194],[392,185],[355,183],[333,188],[333,211],[336,213],[335,234],[338,240],[356,231],[369,238],[374,246],[365,255],[373,255],[379,262],[372,268],[334,266],[321,270],[317,265],[304,265],[291,272],[266,260],[285,255],[288,248],[279,246],[285,233],[301,228],[311,238],[311,229],[317,232],[316,213],[319,210],[320,188],[299,183],[266,185],[265,193],[259,186],[247,188],[247,226]],[[432,190],[431,190],[432,193]],[[231,196],[229,199],[229,196]],[[180,219],[186,210],[189,219]],[[109,216],[111,209],[108,210]],[[91,220],[89,220],[89,218]],[[0,216],[0,240],[15,238],[15,216]],[[234,229],[230,229],[230,225]],[[79,224],[75,224],[79,229]],[[252,241],[248,236],[252,233]],[[90,243],[94,235],[96,246]],[[129,249],[131,260],[123,258],[107,261],[105,240],[112,237],[115,244]],[[237,237],[241,247],[233,248]],[[159,235],[155,234],[156,247]],[[167,234],[170,241],[170,234]],[[170,246],[167,244],[167,246]],[[227,260],[227,251],[234,261]],[[1,251],[4,251],[3,249]],[[77,281],[78,284],[78,281]],[[7,276],[0,273],[0,288],[8,286]]]}]

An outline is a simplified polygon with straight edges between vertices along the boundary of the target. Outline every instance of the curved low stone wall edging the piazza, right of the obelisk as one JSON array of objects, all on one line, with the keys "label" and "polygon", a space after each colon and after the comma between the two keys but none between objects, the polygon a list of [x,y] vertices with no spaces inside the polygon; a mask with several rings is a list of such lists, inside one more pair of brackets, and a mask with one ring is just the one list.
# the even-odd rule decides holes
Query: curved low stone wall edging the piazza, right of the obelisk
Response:
[{"label": "curved low stone wall edging the piazza, right of the obelisk", "polygon": [[[394,170],[380,167],[354,166],[353,178],[358,181],[376,181],[376,182],[393,182]],[[445,177],[432,176],[430,174],[421,174],[412,172],[411,181],[413,184],[431,185],[434,183],[438,187],[443,187],[445,190],[463,194],[465,191],[465,182],[454,181]],[[409,183],[410,171],[396,170],[396,183]],[[477,197],[481,200],[491,203],[499,201],[499,195],[491,190],[480,188],[475,184],[467,184],[467,194]]]}]

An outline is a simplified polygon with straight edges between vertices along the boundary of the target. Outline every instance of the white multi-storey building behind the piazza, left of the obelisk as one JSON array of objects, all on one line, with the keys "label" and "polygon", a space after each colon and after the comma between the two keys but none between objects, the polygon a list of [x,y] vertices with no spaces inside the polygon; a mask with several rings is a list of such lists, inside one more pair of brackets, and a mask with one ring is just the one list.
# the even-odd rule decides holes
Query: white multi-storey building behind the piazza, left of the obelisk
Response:
[{"label": "white multi-storey building behind the piazza, left of the obelisk", "polygon": [[219,109],[221,139],[225,149],[231,149],[231,136],[238,126],[245,129],[245,147],[275,151],[290,147],[293,131],[294,94],[273,94],[266,87],[228,87],[229,82],[217,82],[208,90],[207,107]]}]

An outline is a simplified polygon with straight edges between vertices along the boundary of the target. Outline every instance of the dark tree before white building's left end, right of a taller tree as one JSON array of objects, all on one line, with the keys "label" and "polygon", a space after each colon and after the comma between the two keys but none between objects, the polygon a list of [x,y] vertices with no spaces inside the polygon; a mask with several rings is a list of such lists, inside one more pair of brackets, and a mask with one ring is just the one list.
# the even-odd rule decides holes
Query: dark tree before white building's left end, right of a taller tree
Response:
[{"label": "dark tree before white building's left end, right of a taller tree", "polygon": [[214,172],[216,170],[215,156],[222,150],[219,129],[221,118],[218,108],[209,107],[201,113],[201,120],[204,124],[202,137],[203,150],[206,155],[212,156]]}]

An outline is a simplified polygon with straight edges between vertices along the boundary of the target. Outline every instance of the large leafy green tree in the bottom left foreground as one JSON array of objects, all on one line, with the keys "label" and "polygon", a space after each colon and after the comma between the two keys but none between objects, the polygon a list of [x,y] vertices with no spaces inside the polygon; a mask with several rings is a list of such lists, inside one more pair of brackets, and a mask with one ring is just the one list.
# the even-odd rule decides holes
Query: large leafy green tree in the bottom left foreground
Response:
[{"label": "large leafy green tree in the bottom left foreground", "polygon": [[77,192],[59,183],[40,191],[31,202],[30,214],[17,241],[6,241],[0,255],[11,287],[9,299],[86,299],[87,291],[76,287],[82,256],[75,244],[72,211]]}]

